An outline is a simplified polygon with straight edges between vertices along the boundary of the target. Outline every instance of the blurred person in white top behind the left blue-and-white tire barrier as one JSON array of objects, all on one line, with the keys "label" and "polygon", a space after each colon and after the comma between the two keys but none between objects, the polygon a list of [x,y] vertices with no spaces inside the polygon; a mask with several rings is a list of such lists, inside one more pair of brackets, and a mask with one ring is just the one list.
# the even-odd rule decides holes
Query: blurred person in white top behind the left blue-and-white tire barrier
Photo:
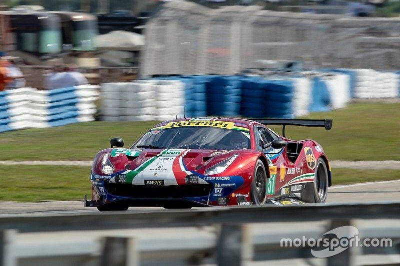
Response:
[{"label": "blurred person in white top behind the left blue-and-white tire barrier", "polygon": [[67,88],[77,85],[88,84],[82,73],[76,71],[74,65],[55,65],[44,81],[46,89]]}]

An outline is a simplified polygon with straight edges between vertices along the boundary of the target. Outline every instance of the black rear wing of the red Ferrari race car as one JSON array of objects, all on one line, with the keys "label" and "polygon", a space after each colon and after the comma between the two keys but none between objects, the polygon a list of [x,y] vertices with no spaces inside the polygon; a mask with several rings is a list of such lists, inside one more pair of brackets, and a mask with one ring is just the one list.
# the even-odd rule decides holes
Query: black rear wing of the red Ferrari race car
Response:
[{"label": "black rear wing of the red Ferrari race car", "polygon": [[282,136],[284,137],[285,126],[303,126],[303,127],[324,127],[326,130],[332,128],[332,119],[269,119],[269,118],[255,118],[253,120],[263,125],[276,125],[282,127]]}]

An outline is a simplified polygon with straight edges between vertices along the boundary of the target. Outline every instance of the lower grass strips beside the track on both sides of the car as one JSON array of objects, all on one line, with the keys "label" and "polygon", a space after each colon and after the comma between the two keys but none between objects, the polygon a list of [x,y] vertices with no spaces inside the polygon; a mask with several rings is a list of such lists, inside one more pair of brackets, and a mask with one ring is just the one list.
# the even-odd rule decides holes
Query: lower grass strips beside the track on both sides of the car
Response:
[{"label": "lower grass strips beside the track on both sides of the car", "polygon": [[[91,197],[90,167],[0,166],[0,201],[39,202],[43,200],[81,200]],[[333,185],[394,180],[395,170],[333,169]]]}]

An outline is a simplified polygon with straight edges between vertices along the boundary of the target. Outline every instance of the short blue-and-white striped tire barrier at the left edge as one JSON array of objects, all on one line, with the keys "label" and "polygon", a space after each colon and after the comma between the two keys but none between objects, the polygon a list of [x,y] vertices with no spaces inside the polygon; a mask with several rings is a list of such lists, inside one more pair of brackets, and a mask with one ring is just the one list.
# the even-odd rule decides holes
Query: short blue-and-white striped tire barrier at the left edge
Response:
[{"label": "short blue-and-white striped tire barrier at the left edge", "polygon": [[0,132],[94,120],[98,86],[54,90],[30,87],[0,92]]}]

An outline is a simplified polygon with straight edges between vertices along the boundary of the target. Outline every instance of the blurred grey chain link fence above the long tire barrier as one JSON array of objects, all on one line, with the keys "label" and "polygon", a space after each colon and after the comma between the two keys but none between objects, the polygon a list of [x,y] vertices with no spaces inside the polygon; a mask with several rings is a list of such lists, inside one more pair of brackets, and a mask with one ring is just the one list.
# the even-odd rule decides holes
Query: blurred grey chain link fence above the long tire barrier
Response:
[{"label": "blurred grey chain link fence above the long tire barrier", "polygon": [[210,9],[174,0],[146,25],[141,74],[234,74],[302,61],[307,69],[400,69],[400,18]]}]

